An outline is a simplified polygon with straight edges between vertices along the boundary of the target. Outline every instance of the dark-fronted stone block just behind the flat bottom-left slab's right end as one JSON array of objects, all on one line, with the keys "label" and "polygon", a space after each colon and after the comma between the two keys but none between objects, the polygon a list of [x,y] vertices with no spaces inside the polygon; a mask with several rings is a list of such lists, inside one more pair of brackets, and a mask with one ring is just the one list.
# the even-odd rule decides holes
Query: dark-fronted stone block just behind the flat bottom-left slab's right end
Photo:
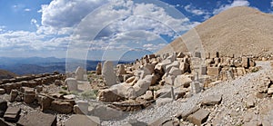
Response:
[{"label": "dark-fronted stone block just behind the flat bottom-left slab's right end", "polygon": [[73,111],[73,104],[71,102],[53,101],[50,109],[61,113],[71,113]]}]

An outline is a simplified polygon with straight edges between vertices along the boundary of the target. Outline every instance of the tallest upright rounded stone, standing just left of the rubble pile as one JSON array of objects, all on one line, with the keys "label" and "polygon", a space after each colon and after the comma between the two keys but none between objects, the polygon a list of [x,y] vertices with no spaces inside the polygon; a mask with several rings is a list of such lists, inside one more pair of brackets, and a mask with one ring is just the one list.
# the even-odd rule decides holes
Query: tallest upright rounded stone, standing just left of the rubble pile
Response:
[{"label": "tallest upright rounded stone, standing just left of the rubble pile", "polygon": [[116,73],[114,72],[113,63],[106,61],[103,66],[102,75],[105,79],[106,86],[116,84]]}]

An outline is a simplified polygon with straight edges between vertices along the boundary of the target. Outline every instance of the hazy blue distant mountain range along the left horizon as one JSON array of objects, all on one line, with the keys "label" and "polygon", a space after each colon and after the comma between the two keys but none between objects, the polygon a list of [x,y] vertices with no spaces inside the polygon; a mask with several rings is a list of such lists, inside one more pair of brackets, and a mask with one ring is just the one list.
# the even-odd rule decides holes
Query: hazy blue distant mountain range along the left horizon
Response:
[{"label": "hazy blue distant mountain range along the left horizon", "polygon": [[[87,71],[96,70],[96,64],[101,61],[76,60],[56,57],[28,57],[28,58],[11,58],[0,57],[0,69],[15,73],[18,75],[38,74],[38,73],[59,73],[73,72],[76,67],[83,66]],[[130,62],[115,62],[130,63]],[[6,72],[5,71],[5,72]],[[0,73],[1,74],[1,73]]]}]

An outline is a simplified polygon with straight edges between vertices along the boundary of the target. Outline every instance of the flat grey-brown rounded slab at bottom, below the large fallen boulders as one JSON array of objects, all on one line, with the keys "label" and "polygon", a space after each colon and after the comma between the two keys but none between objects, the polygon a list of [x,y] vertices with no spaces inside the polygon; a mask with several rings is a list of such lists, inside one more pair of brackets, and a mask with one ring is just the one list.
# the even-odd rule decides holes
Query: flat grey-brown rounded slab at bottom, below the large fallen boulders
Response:
[{"label": "flat grey-brown rounded slab at bottom, below the large fallen boulders", "polygon": [[114,120],[120,118],[123,113],[122,111],[116,111],[115,109],[106,107],[104,105],[97,105],[95,109],[90,111],[91,115],[94,115],[102,120]]}]

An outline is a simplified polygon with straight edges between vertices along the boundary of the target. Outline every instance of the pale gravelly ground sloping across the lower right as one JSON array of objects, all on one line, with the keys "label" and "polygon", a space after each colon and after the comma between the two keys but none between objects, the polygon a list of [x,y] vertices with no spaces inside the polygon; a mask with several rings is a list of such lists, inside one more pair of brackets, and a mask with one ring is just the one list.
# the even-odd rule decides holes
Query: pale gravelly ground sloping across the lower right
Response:
[{"label": "pale gravelly ground sloping across the lower right", "polygon": [[[258,66],[261,66],[262,69],[257,73],[249,73],[233,81],[220,82],[215,87],[197,93],[190,98],[131,113],[121,121],[103,121],[102,125],[122,125],[132,120],[151,123],[166,117],[177,121],[175,116],[178,113],[187,113],[194,107],[200,106],[200,102],[210,95],[221,95],[222,101],[219,105],[201,106],[202,109],[210,112],[204,124],[255,125],[262,123],[263,125],[273,125],[272,97],[259,99],[256,96],[259,83],[264,83],[267,77],[272,76],[273,70],[269,62],[258,62]],[[181,120],[179,123],[193,125]]]}]

